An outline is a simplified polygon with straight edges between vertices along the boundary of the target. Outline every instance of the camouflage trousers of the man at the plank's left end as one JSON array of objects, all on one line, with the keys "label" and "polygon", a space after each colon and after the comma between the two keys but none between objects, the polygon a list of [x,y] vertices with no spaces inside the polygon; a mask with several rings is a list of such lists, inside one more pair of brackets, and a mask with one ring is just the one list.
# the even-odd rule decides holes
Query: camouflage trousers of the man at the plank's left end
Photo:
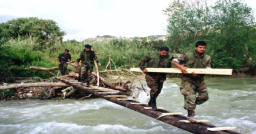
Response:
[{"label": "camouflage trousers of the man at the plank's left end", "polygon": [[150,98],[156,99],[158,97],[161,93],[165,78],[165,76],[152,76],[148,73],[146,74],[145,79],[147,86],[150,88]]}]

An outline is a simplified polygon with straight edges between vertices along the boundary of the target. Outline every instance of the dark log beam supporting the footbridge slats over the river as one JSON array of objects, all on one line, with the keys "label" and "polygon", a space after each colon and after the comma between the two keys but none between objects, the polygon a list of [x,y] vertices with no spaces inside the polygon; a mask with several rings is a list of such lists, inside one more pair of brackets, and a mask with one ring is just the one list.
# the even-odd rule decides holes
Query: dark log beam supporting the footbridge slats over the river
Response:
[{"label": "dark log beam supporting the footbridge slats over the river", "polygon": [[[118,105],[122,105],[124,107],[127,107],[131,110],[134,110],[136,112],[140,112],[141,114],[145,114],[147,116],[150,116],[152,118],[158,118],[159,116],[162,115],[162,113],[168,113],[169,111],[167,110],[146,110],[143,105],[134,105],[132,103],[139,103],[137,101],[120,101],[118,100],[119,98],[115,97],[106,97],[106,95],[99,94],[98,92],[87,89],[87,88],[82,88],[82,87],[76,87],[80,88],[81,90],[85,90],[87,93],[91,93],[92,95],[96,97],[101,97],[102,99],[106,99],[108,101],[111,101],[113,103],[116,103]],[[175,127],[178,127],[180,129],[184,129],[185,131],[188,131],[190,133],[218,133],[218,134],[224,134],[224,133],[232,133],[232,134],[240,134],[236,131],[208,131],[207,129],[209,127],[216,127],[212,124],[207,124],[207,123],[186,123],[186,122],[180,122],[180,120],[186,120],[185,116],[163,116],[162,118],[158,118],[158,120],[165,122],[167,124],[171,124]]]}]

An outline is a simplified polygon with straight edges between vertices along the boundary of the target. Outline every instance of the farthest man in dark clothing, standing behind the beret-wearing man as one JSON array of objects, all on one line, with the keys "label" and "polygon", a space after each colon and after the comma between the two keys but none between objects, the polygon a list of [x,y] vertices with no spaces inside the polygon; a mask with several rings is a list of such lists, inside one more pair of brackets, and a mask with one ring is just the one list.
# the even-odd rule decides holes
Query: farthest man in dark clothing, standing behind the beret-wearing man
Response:
[{"label": "farthest man in dark clothing, standing behind the beret-wearing man", "polygon": [[[69,50],[65,50],[63,54],[59,54],[58,56],[58,64],[59,64],[59,70],[61,71],[61,75],[65,75],[67,71],[68,64],[71,64],[71,55],[68,53]],[[67,64],[67,62],[69,62]]]}]

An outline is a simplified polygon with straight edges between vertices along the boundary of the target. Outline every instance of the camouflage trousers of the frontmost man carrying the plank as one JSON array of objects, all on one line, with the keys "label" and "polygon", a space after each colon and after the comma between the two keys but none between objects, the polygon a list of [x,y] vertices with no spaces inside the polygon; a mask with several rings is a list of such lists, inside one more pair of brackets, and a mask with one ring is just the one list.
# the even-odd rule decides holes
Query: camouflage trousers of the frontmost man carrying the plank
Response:
[{"label": "camouflage trousers of the frontmost man carrying the plank", "polygon": [[182,77],[180,93],[184,95],[184,108],[186,110],[195,110],[196,105],[200,105],[209,99],[203,78]]}]

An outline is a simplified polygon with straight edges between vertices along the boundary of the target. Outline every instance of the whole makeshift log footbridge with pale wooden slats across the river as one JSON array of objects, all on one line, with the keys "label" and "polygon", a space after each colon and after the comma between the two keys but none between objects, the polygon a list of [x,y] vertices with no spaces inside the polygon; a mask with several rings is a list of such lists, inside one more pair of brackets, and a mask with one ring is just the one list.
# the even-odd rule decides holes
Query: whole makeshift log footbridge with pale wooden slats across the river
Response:
[{"label": "whole makeshift log footbridge with pale wooden slats across the river", "polygon": [[[156,120],[161,120],[167,124],[171,124],[185,131],[191,133],[238,133],[236,131],[231,131],[233,127],[216,127],[212,124],[207,124],[203,121],[208,120],[199,120],[202,122],[189,123],[186,122],[186,117],[182,116],[182,113],[173,113],[167,110],[163,110],[158,107],[158,111],[151,110],[151,107],[147,103],[140,103],[136,101],[137,99],[129,98],[126,95],[119,95],[117,92],[109,92],[109,88],[97,88],[96,86],[85,87],[85,85],[80,85],[80,82],[70,77],[59,77],[57,78],[62,82],[73,86],[76,89],[84,90],[87,93],[90,93],[96,97],[106,99],[118,105],[122,105],[141,114],[145,114]],[[113,89],[111,89],[113,90]],[[224,131],[223,131],[224,130]]]}]

